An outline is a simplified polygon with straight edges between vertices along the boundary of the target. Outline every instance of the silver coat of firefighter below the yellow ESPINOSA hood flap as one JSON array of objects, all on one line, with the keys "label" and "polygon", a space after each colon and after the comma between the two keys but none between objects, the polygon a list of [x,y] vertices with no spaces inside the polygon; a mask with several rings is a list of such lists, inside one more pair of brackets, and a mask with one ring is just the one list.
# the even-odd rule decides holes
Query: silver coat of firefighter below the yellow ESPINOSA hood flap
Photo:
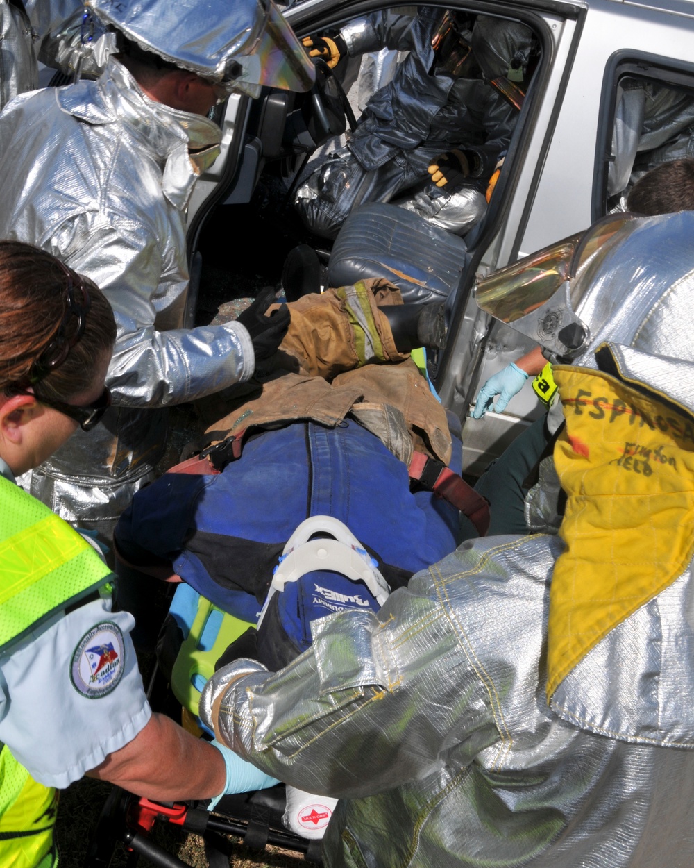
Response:
[{"label": "silver coat of firefighter below the yellow ESPINOSA hood flap", "polygon": [[[466,542],[377,615],[315,623],[311,650],[278,674],[248,674],[248,661],[221,669],[200,707],[221,692],[220,740],[293,786],[340,797],[326,865],[684,868],[694,753],[594,734],[547,707],[548,589],[561,550],[551,536]],[[691,595],[689,570],[681,583]],[[691,637],[686,609],[674,599],[658,608],[661,597],[649,640],[658,625]],[[625,704],[650,695],[634,618],[582,681],[606,701],[615,688]],[[673,654],[678,672],[691,667]],[[624,678],[608,688],[606,672]],[[666,698],[690,733],[691,698]]]}]

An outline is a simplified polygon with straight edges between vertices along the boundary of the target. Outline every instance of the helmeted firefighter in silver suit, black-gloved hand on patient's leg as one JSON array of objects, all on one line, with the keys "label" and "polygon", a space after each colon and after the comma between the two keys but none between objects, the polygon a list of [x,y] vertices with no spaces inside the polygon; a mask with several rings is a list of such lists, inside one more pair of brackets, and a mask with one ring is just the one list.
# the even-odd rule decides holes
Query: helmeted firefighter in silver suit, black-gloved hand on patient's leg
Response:
[{"label": "helmeted firefighter in silver suit, black-gloved hand on patient's leg", "polygon": [[[118,337],[114,406],[31,476],[31,491],[108,539],[152,478],[167,406],[249,378],[288,316],[184,328],[186,208],[219,153],[206,115],[233,91],[305,90],[313,64],[272,0],[95,0],[119,51],[98,81],[21,95],[0,118],[0,237],[60,255],[102,287]],[[191,48],[193,46],[193,48]],[[56,144],[59,142],[59,146]]]}]

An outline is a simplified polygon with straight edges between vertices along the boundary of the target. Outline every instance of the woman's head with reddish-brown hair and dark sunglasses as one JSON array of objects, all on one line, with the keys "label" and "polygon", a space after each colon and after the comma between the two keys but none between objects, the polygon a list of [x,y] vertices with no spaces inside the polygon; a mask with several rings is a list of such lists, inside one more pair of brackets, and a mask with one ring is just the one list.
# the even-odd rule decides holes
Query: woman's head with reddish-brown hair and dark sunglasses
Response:
[{"label": "woman's head with reddish-brown hair and dark sunglasses", "polygon": [[91,280],[49,253],[3,241],[0,334],[0,457],[23,473],[78,424],[88,431],[103,416],[115,320]]}]

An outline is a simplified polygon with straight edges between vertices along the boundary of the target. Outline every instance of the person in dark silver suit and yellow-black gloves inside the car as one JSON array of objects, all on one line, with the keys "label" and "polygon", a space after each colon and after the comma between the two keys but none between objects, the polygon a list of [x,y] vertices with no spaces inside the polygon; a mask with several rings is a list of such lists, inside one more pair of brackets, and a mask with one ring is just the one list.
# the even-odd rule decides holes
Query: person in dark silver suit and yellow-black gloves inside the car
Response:
[{"label": "person in dark silver suit and yellow-black gloves inside the car", "polygon": [[394,201],[410,188],[420,196],[413,191],[408,207],[426,215],[429,198],[437,220],[445,201],[452,231],[481,220],[489,178],[518,116],[521,89],[509,79],[522,84],[527,74],[529,28],[424,7],[415,16],[376,12],[304,44],[329,66],[383,46],[409,50],[392,81],[370,97],[346,148],[298,187],[295,205],[313,232],[334,238],[352,207]]}]

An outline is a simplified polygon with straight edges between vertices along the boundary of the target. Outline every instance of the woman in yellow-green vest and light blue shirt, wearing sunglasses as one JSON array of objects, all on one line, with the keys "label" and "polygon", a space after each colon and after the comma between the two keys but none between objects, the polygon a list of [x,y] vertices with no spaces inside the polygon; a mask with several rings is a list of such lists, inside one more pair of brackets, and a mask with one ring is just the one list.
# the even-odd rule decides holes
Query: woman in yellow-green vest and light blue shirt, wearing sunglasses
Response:
[{"label": "woman in yellow-green vest and light blue shirt, wearing sunglasses", "polygon": [[0,241],[0,865],[13,868],[56,863],[55,787],[85,773],[160,800],[275,782],[152,713],[107,566],[15,484],[99,422],[114,341],[90,280]]}]

